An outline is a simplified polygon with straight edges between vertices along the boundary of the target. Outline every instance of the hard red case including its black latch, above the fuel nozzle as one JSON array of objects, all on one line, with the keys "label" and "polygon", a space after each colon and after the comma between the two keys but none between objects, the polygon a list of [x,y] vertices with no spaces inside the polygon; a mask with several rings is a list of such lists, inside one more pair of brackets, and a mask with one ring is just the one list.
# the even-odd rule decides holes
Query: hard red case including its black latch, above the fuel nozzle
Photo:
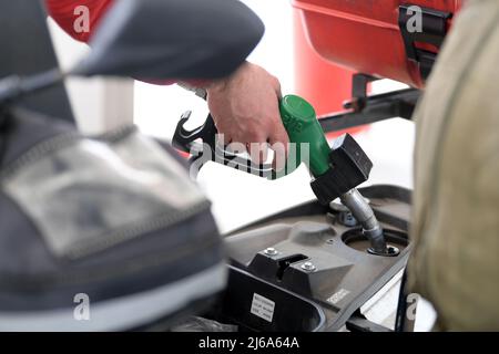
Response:
[{"label": "hard red case including its black latch, above the fuel nozzle", "polygon": [[[358,72],[422,87],[462,0],[293,0],[310,45]],[[418,27],[419,24],[419,27]]]}]

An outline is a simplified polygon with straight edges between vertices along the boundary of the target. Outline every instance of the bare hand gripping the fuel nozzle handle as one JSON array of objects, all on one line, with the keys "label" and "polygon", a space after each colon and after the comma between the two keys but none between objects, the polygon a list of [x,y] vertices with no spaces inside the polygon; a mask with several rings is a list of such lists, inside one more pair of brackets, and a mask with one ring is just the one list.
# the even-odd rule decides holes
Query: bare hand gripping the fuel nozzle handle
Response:
[{"label": "bare hand gripping the fuel nozzle handle", "polygon": [[281,84],[263,67],[244,63],[231,76],[206,87],[207,103],[224,143],[240,143],[255,164],[275,153],[274,167],[284,167],[288,136],[281,119]]}]

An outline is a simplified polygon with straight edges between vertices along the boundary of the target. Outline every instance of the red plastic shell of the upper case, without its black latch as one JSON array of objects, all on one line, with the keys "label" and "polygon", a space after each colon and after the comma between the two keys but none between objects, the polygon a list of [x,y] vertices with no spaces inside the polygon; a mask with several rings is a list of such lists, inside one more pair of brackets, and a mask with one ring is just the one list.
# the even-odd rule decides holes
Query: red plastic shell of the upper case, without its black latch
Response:
[{"label": "red plastic shell of the upper case, without its black latch", "polygon": [[417,65],[406,58],[398,7],[417,4],[456,13],[461,0],[293,0],[312,46],[328,61],[355,71],[421,87]]}]

